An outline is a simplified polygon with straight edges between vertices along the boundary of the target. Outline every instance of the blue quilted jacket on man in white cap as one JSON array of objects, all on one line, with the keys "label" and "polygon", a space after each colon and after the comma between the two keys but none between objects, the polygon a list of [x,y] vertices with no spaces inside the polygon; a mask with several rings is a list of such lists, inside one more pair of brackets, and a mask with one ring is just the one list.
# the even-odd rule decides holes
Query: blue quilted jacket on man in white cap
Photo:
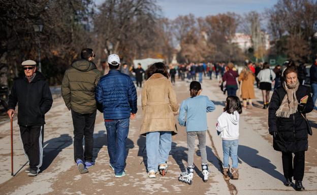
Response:
[{"label": "blue quilted jacket on man in white cap", "polygon": [[129,75],[110,70],[101,77],[96,87],[96,101],[103,105],[104,119],[130,118],[137,113],[137,91]]}]

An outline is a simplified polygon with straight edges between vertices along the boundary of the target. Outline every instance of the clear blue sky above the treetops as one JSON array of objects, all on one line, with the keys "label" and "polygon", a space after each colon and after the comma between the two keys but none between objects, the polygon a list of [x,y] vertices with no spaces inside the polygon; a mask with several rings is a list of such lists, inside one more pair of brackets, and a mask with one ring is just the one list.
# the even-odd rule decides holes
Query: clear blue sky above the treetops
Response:
[{"label": "clear blue sky above the treetops", "polygon": [[[94,0],[100,5],[104,0]],[[277,0],[157,0],[163,16],[174,19],[178,15],[194,14],[196,17],[216,15],[218,13],[235,12],[243,14],[250,11],[264,12],[271,8]]]}]

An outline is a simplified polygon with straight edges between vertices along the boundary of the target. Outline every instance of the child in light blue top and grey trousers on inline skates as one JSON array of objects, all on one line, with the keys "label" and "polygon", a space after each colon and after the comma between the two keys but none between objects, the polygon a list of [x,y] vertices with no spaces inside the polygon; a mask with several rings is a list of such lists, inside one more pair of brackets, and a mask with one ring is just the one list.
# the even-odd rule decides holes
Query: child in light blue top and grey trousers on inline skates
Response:
[{"label": "child in light blue top and grey trousers on inline skates", "polygon": [[188,147],[188,165],[186,172],[182,173],[178,178],[179,181],[191,184],[194,176],[194,151],[195,138],[198,137],[199,149],[201,153],[202,173],[204,182],[207,182],[209,176],[206,152],[206,130],[207,114],[215,109],[215,105],[207,96],[200,95],[202,88],[199,82],[193,81],[189,86],[191,97],[182,101],[178,123],[180,126],[186,126],[187,147]]}]

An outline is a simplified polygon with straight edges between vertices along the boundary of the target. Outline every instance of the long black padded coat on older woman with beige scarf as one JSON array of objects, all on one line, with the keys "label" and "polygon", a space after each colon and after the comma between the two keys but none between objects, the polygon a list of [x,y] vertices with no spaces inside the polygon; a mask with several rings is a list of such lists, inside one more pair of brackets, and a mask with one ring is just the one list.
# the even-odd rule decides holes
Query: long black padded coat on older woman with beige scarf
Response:
[{"label": "long black padded coat on older woman with beige scarf", "polygon": [[[281,118],[275,115],[279,108],[286,91],[283,87],[278,87],[274,90],[271,97],[269,107],[269,132],[277,132],[277,136],[273,138],[273,148],[277,151],[298,152],[308,149],[308,134],[306,122],[303,116],[297,111],[290,115],[290,118]],[[308,101],[302,113],[311,112],[313,102],[307,87],[300,85],[296,91],[297,101],[308,95]]]}]

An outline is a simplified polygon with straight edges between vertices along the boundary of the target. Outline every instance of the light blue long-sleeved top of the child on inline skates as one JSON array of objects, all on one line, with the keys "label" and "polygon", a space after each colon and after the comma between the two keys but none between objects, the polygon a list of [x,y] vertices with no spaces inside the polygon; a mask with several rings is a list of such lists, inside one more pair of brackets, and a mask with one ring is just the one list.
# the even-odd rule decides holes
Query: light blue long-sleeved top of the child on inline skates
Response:
[{"label": "light blue long-sleeved top of the child on inline skates", "polygon": [[207,114],[215,109],[215,105],[207,96],[189,97],[182,101],[179,109],[178,123],[186,126],[186,132],[206,131]]}]

